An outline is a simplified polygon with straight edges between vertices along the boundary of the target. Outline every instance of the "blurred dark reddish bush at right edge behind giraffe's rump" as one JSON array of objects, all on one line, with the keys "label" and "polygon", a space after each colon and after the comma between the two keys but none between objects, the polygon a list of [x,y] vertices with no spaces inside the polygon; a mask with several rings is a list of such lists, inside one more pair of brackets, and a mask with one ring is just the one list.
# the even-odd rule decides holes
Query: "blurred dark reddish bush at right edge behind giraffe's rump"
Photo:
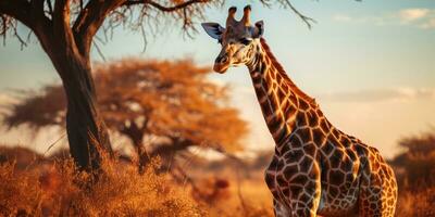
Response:
[{"label": "blurred dark reddish bush at right edge behind giraffe's rump", "polygon": [[403,138],[399,146],[406,151],[391,159],[401,171],[399,184],[412,190],[435,187],[435,130]]}]

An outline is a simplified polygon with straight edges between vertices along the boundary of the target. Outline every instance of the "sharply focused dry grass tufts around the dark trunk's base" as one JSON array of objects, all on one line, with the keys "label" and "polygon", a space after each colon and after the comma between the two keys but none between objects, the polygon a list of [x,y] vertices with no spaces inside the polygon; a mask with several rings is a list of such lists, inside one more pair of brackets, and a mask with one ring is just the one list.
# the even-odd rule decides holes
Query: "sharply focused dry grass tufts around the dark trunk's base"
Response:
[{"label": "sharply focused dry grass tufts around the dark trunk's base", "polygon": [[[87,187],[90,176],[71,162],[44,171],[0,166],[2,216],[203,216],[186,192],[171,188],[164,176],[133,166],[104,164],[104,176]],[[120,169],[122,166],[122,169]]]}]

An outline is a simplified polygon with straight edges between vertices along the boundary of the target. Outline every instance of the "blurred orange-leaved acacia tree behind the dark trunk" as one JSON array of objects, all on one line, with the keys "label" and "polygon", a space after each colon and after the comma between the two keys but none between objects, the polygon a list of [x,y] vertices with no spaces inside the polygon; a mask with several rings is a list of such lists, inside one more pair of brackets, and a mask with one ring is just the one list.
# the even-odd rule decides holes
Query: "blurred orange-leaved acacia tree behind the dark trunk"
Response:
[{"label": "blurred orange-leaved acacia tree behind the dark trunk", "polygon": [[[227,88],[207,79],[210,72],[189,60],[130,59],[96,68],[101,115],[112,130],[130,139],[140,167],[149,156],[173,155],[195,145],[217,151],[240,148],[246,123],[226,105]],[[22,92],[23,99],[10,106],[4,118],[9,127],[64,126],[66,104],[60,85]],[[151,153],[146,152],[145,137],[159,143]]]}]

